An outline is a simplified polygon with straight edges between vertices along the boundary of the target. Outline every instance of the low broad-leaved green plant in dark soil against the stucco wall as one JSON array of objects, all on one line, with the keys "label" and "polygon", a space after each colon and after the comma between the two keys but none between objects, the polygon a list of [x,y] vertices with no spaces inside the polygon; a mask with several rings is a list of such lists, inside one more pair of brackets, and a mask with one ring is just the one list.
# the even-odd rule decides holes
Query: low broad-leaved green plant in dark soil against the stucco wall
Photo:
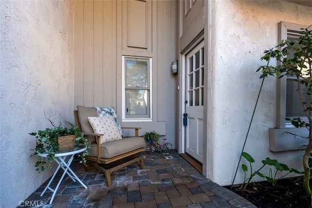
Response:
[{"label": "low broad-leaved green plant in dark soil against the stucco wall", "polygon": [[[263,166],[261,166],[260,169],[253,172],[252,163],[254,163],[254,158],[250,154],[248,154],[247,152],[242,152],[242,156],[249,162],[250,176],[248,178],[246,178],[246,173],[248,172],[248,167],[245,164],[242,164],[242,170],[244,171],[245,178],[244,178],[244,182],[240,186],[240,189],[246,189],[255,175],[258,175],[262,178],[266,178],[267,181],[272,184],[272,186],[275,186],[279,179],[284,178],[286,175],[288,175],[291,172],[295,172],[297,174],[302,174],[300,171],[295,170],[293,168],[290,169],[287,165],[279,163],[277,160],[271,159],[270,157],[267,157],[267,158],[265,158],[265,160],[262,160],[261,162],[262,162]],[[260,170],[262,170],[266,165],[273,166],[275,169],[275,173],[273,174],[273,170],[271,168],[269,170],[268,176],[265,176],[263,173],[261,173]],[[276,175],[277,175],[278,171],[280,171],[280,172],[287,171],[287,172],[284,175],[277,178]]]}]

